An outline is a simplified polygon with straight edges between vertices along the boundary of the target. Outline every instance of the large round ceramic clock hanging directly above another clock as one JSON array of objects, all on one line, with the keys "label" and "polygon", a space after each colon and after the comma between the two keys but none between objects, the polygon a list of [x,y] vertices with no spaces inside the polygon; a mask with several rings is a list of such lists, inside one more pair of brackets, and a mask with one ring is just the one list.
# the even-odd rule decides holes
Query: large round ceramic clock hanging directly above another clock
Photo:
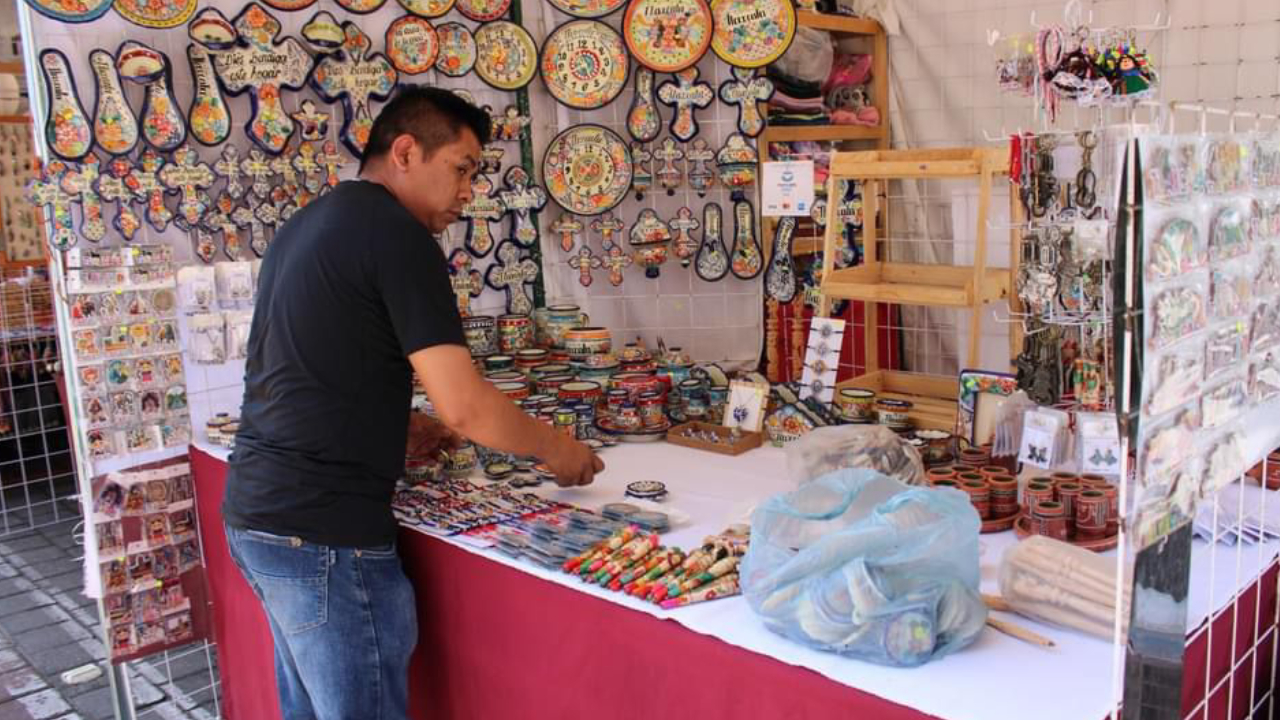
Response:
[{"label": "large round ceramic clock hanging directly above another clock", "polygon": [[627,47],[599,20],[572,20],[543,45],[543,82],[552,97],[577,109],[603,108],[627,85]]}]

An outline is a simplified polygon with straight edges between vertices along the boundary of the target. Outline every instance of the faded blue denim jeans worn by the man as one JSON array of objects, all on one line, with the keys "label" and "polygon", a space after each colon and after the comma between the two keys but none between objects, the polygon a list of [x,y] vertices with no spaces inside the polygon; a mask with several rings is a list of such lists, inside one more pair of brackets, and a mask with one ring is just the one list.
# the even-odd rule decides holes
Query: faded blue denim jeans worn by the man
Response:
[{"label": "faded blue denim jeans worn by the man", "polygon": [[329,547],[227,528],[275,639],[284,720],[403,720],[417,643],[396,546]]}]

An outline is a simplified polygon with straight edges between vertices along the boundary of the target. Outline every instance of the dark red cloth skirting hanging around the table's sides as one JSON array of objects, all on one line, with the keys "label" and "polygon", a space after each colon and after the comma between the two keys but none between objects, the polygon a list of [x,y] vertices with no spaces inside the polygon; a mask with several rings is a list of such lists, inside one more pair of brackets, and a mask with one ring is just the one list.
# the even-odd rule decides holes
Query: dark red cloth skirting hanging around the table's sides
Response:
[{"label": "dark red cloth skirting hanging around the table's sides", "polygon": [[[278,720],[271,634],[252,591],[227,551],[219,505],[227,465],[192,448],[214,634],[228,720]],[[404,530],[401,552],[417,592],[419,647],[411,666],[415,719],[440,717],[929,717],[817,673],[700,635]],[[1242,593],[1236,626],[1275,618],[1276,574]],[[1260,591],[1261,588],[1261,591]],[[1236,670],[1236,710],[1252,685],[1249,641],[1230,662],[1233,610],[1215,620],[1213,683]],[[1266,625],[1263,625],[1266,626]],[[1252,630],[1251,630],[1252,632]],[[1275,637],[1274,630],[1270,635]],[[1188,648],[1184,712],[1204,697],[1207,637]],[[1258,678],[1274,678],[1271,641],[1258,646]],[[1239,662],[1244,659],[1244,662]],[[1244,676],[1242,676],[1244,674]],[[1271,682],[1257,683],[1262,694]],[[928,692],[922,688],[920,692]],[[975,688],[974,692],[982,692]],[[1226,685],[1210,717],[1225,717]],[[1238,712],[1243,717],[1244,712]],[[1266,714],[1261,715],[1266,716]]]}]

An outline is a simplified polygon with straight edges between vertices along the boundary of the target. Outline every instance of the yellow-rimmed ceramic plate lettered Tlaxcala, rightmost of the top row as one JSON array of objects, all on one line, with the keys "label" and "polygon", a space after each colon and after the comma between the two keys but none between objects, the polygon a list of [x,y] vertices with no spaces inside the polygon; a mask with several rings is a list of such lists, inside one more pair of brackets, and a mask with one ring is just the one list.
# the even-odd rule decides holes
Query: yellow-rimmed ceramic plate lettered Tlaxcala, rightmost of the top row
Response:
[{"label": "yellow-rimmed ceramic plate lettered Tlaxcala, rightmost of the top row", "polygon": [[740,68],[768,65],[787,51],[796,36],[791,0],[712,0],[712,50]]}]

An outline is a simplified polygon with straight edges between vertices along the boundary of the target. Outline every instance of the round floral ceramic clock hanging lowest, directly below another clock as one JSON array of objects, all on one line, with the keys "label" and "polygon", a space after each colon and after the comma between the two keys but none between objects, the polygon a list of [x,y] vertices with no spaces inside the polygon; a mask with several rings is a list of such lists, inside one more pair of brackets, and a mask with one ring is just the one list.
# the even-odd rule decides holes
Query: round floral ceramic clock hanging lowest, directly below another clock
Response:
[{"label": "round floral ceramic clock hanging lowest, directly below another clock", "polygon": [[556,136],[543,156],[547,192],[577,215],[599,215],[631,190],[631,152],[602,126],[575,126]]}]

